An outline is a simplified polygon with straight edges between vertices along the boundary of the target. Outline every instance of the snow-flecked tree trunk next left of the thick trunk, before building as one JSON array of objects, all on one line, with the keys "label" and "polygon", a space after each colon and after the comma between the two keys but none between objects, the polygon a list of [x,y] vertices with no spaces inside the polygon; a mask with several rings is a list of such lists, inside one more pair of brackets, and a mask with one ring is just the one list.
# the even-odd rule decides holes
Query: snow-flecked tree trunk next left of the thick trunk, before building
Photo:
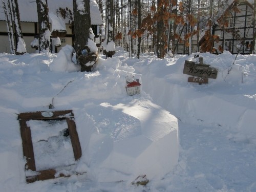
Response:
[{"label": "snow-flecked tree trunk next left of the thick trunk, before building", "polygon": [[39,29],[39,52],[50,51],[50,24],[47,1],[36,0]]}]

